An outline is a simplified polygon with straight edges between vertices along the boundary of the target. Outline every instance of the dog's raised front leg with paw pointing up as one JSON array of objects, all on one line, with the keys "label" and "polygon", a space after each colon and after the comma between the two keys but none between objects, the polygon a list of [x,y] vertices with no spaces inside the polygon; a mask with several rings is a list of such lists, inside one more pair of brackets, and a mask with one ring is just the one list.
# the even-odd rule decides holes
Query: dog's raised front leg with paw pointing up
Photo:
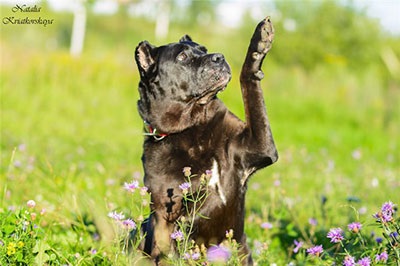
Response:
[{"label": "dog's raised front leg with paw pointing up", "polygon": [[274,29],[267,17],[257,25],[240,75],[246,114],[242,143],[250,156],[247,167],[253,170],[268,166],[278,159],[260,84],[264,77],[261,65],[271,49],[273,38]]}]

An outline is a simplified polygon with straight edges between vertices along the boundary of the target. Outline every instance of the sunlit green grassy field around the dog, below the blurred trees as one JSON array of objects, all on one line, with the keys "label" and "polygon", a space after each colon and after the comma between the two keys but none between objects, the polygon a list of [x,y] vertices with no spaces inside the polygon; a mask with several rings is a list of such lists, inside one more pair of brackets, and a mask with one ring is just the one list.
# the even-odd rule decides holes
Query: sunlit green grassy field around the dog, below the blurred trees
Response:
[{"label": "sunlit green grassy field around the dog, below the blurred trees", "polygon": [[[107,214],[140,215],[143,199],[122,186],[142,176],[143,121],[136,110],[133,49],[145,33],[129,41],[125,36],[108,50],[98,48],[98,36],[89,33],[85,53],[71,58],[66,49],[40,39],[40,30],[15,33],[3,26],[2,31],[1,262],[133,263],[121,251],[118,228]],[[22,41],[16,41],[18,32]],[[173,30],[168,41],[183,33]],[[227,44],[238,32],[226,35],[224,43],[218,34],[192,35],[231,63],[234,78],[221,98],[243,117],[238,72],[251,32],[234,50]],[[263,87],[280,160],[249,183],[246,232],[255,261],[330,265],[349,253],[374,260],[389,252],[390,246],[372,241],[382,237],[372,214],[384,202],[400,203],[398,92],[391,94],[374,67],[352,71],[323,64],[305,71],[277,64],[274,50],[269,57]],[[28,200],[36,206],[26,207]],[[30,234],[18,229],[23,221],[32,225]],[[353,221],[363,225],[364,246],[349,242],[341,249],[326,238],[330,228],[347,230]],[[305,243],[297,254],[294,240]],[[306,248],[316,244],[326,251],[310,258]],[[398,252],[397,247],[397,257],[391,253],[394,264]]]}]

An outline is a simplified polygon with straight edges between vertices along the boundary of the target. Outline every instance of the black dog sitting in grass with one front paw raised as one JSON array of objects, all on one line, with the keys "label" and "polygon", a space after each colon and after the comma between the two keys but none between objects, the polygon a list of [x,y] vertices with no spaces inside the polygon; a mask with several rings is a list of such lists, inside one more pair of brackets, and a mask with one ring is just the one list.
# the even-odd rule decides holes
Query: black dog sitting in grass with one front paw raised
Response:
[{"label": "black dog sitting in grass with one front paw raised", "polygon": [[[216,97],[231,79],[222,54],[184,36],[178,43],[155,47],[147,41],[136,48],[140,72],[138,109],[147,124],[144,142],[144,184],[151,192],[152,215],[145,226],[143,249],[156,263],[174,252],[171,233],[185,215],[179,185],[182,169],[198,177],[211,170],[208,197],[195,220],[191,238],[205,246],[219,244],[226,231],[248,254],[244,234],[247,180],[278,159],[263,100],[261,64],[271,48],[274,31],[269,18],[251,39],[240,75],[246,121],[233,115]],[[192,178],[192,187],[199,178]],[[208,217],[205,219],[204,217]]]}]

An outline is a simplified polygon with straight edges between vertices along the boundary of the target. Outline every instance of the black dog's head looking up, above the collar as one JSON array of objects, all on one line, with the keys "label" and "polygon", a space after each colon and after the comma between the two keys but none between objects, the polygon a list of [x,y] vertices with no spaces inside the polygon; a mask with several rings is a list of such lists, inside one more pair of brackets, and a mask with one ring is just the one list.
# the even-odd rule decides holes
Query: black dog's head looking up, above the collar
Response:
[{"label": "black dog's head looking up, above the collar", "polygon": [[160,47],[143,41],[136,47],[135,59],[140,73],[139,113],[165,133],[197,123],[201,110],[231,78],[222,54],[208,54],[187,35]]}]

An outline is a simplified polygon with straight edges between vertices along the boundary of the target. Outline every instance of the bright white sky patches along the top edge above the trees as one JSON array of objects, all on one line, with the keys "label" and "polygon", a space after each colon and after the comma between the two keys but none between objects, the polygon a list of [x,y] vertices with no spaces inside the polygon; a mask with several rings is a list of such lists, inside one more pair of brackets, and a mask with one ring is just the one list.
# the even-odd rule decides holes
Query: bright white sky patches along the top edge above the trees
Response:
[{"label": "bright white sky patches along the top edge above the trees", "polygon": [[[72,9],[76,1],[79,0],[48,0],[49,4],[56,10]],[[181,1],[184,2],[185,0]],[[250,9],[251,14],[256,17],[262,17],[263,14],[258,14],[260,9],[257,9],[257,2],[261,1],[262,0],[221,1],[222,3],[217,12],[222,21],[225,21],[228,25],[235,26],[240,23],[240,18],[247,8]],[[271,0],[263,0],[264,3],[265,1],[272,2]],[[7,5],[15,5],[15,3],[33,5],[38,2],[37,0],[0,0],[1,4]],[[154,5],[155,2],[157,1],[146,1],[149,6]],[[360,8],[366,8],[367,14],[373,18],[379,19],[386,30],[393,34],[400,35],[400,0],[354,0],[354,3]],[[113,0],[99,0],[95,6],[95,9],[100,13],[112,13],[115,12],[117,8],[116,1]]]}]

